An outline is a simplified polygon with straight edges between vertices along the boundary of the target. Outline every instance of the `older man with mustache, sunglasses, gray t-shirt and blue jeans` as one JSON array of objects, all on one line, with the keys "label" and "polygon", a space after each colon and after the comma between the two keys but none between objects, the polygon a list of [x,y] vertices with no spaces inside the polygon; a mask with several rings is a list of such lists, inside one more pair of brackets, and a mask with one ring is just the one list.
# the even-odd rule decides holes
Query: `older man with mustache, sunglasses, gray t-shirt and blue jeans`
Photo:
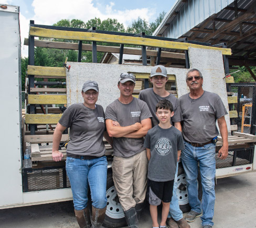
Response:
[{"label": "older man with mustache, sunglasses, gray t-shirt and blue jeans", "polygon": [[[182,163],[188,183],[188,199],[191,211],[185,216],[188,222],[193,222],[201,216],[202,227],[211,228],[214,223],[215,204],[215,143],[219,134],[216,127],[218,121],[223,144],[218,152],[218,158],[228,156],[228,130],[225,115],[228,114],[220,97],[202,89],[202,74],[197,69],[191,69],[186,75],[190,93],[179,98],[183,116],[182,134],[185,149],[182,151]],[[200,167],[202,182],[202,205],[198,199],[197,167]]]}]

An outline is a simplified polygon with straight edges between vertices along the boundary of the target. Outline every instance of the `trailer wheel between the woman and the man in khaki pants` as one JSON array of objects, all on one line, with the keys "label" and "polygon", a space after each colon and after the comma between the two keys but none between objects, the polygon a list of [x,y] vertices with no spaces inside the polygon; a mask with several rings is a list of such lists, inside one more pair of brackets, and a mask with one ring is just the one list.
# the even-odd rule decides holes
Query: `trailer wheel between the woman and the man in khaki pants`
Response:
[{"label": "trailer wheel between the woman and the man in khaki pants", "polygon": [[106,179],[106,215],[103,225],[105,227],[123,227],[126,226],[124,212],[119,202],[118,194],[116,193],[114,181],[112,178],[112,170],[108,172]]}]

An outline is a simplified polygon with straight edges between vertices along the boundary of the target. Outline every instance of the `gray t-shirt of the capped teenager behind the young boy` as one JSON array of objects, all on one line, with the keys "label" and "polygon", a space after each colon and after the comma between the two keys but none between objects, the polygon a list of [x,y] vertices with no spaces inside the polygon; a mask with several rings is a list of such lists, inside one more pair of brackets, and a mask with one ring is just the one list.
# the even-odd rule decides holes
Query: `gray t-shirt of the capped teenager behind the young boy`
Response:
[{"label": "gray t-shirt of the capped teenager behind the young boy", "polygon": [[182,121],[182,112],[180,111],[179,100],[172,94],[169,94],[167,97],[158,96],[153,88],[143,89],[138,95],[138,99],[145,101],[150,108],[152,114],[152,127],[156,126],[159,123],[158,118],[156,117],[156,105],[160,100],[167,99],[173,105],[174,116],[170,119],[172,122]]}]

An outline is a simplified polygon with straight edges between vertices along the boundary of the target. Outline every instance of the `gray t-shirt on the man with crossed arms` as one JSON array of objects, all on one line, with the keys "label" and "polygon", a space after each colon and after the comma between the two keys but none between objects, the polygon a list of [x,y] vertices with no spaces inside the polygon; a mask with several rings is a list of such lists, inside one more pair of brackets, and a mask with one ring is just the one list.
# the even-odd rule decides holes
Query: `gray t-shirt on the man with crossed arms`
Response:
[{"label": "gray t-shirt on the man with crossed arms", "polygon": [[[121,127],[130,126],[141,122],[144,119],[151,118],[152,115],[147,104],[137,98],[129,104],[122,104],[119,99],[114,100],[105,111],[105,119],[118,121]],[[113,137],[114,156],[130,157],[144,150],[144,137],[140,139],[115,138]]]}]

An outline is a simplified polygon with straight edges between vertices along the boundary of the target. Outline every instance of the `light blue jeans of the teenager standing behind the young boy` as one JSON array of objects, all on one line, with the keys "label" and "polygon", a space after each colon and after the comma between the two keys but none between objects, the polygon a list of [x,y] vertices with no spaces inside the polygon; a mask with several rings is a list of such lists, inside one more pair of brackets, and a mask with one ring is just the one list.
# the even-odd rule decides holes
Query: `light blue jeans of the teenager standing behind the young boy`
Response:
[{"label": "light blue jeans of the teenager standing behind the young boy", "polygon": [[173,197],[172,197],[172,201],[170,201],[170,209],[168,213],[168,218],[172,217],[175,221],[179,221],[180,219],[183,218],[183,213],[179,209],[179,200],[177,197],[177,187],[178,187],[177,176],[178,176],[178,163],[177,163],[177,168],[176,168],[176,173],[174,178]]}]

